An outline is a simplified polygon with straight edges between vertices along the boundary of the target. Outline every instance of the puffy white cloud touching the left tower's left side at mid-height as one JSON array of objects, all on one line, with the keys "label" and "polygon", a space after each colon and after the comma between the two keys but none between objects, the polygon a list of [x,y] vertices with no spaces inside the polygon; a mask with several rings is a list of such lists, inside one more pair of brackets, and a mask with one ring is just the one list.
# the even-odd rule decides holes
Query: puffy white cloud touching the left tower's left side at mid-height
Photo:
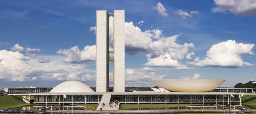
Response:
[{"label": "puffy white cloud touching the left tower's left side at mid-height", "polygon": [[81,51],[78,46],[71,49],[60,49],[56,54],[65,56],[63,62],[92,64],[96,60],[96,45],[85,46]]}]

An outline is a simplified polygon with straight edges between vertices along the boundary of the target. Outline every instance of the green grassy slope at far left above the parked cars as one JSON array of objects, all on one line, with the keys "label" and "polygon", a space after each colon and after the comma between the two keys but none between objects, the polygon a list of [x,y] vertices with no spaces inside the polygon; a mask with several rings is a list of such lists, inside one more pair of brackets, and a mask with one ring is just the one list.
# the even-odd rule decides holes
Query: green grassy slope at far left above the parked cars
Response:
[{"label": "green grassy slope at far left above the parked cars", "polygon": [[12,108],[28,106],[28,105],[33,105],[33,104],[28,104],[10,95],[0,96],[0,109],[12,109]]}]

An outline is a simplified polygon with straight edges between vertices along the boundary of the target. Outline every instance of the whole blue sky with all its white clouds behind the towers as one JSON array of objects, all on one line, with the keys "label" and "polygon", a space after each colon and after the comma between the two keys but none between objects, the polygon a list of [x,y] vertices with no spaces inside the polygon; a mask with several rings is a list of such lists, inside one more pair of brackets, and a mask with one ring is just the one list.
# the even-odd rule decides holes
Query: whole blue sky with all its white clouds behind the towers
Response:
[{"label": "whole blue sky with all its white clouds behind the towers", "polygon": [[97,10],[125,10],[125,86],[256,79],[256,0],[0,0],[0,90],[68,80],[95,87]]}]

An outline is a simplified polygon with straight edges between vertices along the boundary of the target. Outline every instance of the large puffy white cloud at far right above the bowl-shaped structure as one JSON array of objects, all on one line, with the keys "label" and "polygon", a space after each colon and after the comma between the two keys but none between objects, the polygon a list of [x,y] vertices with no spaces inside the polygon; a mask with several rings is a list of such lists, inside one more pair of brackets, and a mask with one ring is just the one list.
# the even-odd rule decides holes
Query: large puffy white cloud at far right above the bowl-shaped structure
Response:
[{"label": "large puffy white cloud at far right above the bowl-shaped structure", "polygon": [[[234,40],[228,40],[212,45],[207,51],[207,57],[200,60],[199,57],[186,62],[191,65],[202,67],[226,67],[238,68],[243,66],[254,66],[249,62],[243,62],[242,55],[254,55],[252,51],[254,44],[236,43]],[[190,59],[190,58],[189,58]]]}]

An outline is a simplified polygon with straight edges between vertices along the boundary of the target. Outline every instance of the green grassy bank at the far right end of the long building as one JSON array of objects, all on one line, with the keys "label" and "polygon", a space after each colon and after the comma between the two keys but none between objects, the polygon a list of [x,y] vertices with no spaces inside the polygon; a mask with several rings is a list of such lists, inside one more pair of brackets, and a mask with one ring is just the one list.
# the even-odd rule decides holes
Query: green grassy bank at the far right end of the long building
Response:
[{"label": "green grassy bank at the far right end of the long building", "polygon": [[256,95],[243,95],[242,104],[256,106]]}]

